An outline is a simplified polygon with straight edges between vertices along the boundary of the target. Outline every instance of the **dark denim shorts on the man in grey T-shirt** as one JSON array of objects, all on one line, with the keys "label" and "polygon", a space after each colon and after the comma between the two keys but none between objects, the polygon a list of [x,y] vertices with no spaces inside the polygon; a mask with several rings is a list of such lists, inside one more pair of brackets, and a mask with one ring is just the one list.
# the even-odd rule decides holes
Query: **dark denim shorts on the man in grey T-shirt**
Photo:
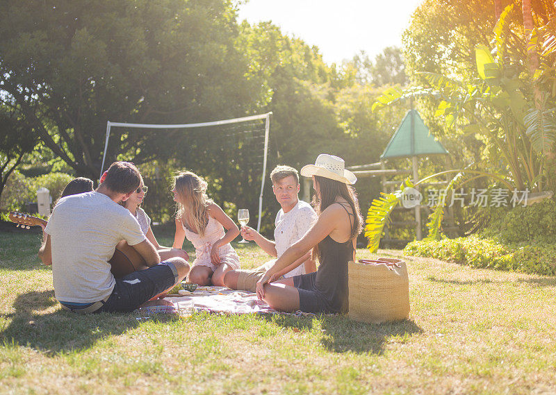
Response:
[{"label": "dark denim shorts on the man in grey T-shirt", "polygon": [[172,262],[161,262],[149,269],[133,271],[116,278],[116,285],[104,305],[95,312],[129,312],[172,287],[179,280]]}]

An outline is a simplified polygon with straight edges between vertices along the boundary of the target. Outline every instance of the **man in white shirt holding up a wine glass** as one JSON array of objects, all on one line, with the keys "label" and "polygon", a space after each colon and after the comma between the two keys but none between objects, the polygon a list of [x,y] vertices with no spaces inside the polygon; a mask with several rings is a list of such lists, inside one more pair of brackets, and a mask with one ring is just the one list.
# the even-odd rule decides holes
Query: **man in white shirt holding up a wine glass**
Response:
[{"label": "man in white shirt holding up a wine glass", "polygon": [[[300,192],[300,178],[296,169],[289,166],[277,166],[270,173],[270,180],[272,180],[272,192],[274,192],[276,200],[281,206],[275,220],[275,241],[272,242],[272,240],[265,238],[249,226],[241,228],[241,235],[246,240],[256,242],[268,255],[279,258],[284,251],[307,233],[316,222],[317,215],[309,203],[300,201],[297,196]],[[231,289],[245,289],[255,292],[257,281],[274,262],[275,260],[270,260],[252,270],[229,271],[224,277],[224,284]],[[313,271],[316,271],[316,265],[314,260],[311,260],[308,252],[277,273],[275,280]]]}]

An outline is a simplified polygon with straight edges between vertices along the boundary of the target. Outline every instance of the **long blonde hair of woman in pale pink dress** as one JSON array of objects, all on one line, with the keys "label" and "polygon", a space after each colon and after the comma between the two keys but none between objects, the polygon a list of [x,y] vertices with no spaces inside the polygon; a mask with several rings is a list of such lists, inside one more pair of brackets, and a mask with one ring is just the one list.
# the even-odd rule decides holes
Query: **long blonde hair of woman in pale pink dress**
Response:
[{"label": "long blonde hair of woman in pale pink dress", "polygon": [[200,236],[208,224],[208,205],[213,201],[206,195],[206,181],[192,171],[180,171],[174,177],[178,195],[176,218]]}]

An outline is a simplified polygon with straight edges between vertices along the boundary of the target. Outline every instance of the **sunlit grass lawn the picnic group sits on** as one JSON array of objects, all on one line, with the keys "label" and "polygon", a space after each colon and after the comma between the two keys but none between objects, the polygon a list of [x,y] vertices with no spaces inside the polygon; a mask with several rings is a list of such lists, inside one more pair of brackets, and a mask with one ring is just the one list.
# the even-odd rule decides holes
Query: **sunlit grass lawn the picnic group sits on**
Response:
[{"label": "sunlit grass lawn the picnic group sits on", "polygon": [[[60,310],[38,246],[37,234],[0,233],[1,394],[556,392],[555,278],[408,257],[408,321],[138,321]],[[243,267],[266,259],[253,243],[236,246]]]}]

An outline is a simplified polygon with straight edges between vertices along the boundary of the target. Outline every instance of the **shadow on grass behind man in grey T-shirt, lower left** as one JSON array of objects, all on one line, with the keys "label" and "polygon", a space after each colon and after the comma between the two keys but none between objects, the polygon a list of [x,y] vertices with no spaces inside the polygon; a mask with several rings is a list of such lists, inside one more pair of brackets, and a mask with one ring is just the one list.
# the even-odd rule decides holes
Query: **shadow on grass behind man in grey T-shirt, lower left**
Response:
[{"label": "shadow on grass behind man in grey T-shirt, lower left", "polygon": [[[44,310],[57,304],[53,290],[18,295],[13,303],[15,312],[2,314],[4,318],[11,319],[11,322],[0,327],[0,344],[28,346],[46,355],[55,356],[58,353],[91,348],[105,337],[121,335],[139,325],[137,316],[129,313],[81,315],[56,310],[44,314]],[[171,320],[173,317],[167,319]]]}]

